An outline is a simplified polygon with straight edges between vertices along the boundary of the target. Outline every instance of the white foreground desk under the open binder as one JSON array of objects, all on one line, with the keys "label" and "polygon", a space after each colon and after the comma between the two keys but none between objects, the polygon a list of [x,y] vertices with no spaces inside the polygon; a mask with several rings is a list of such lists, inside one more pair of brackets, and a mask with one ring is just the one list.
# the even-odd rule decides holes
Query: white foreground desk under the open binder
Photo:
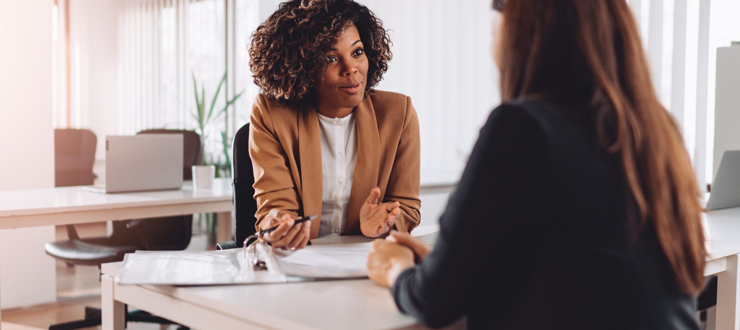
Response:
[{"label": "white foreground desk under the open binder", "polygon": [[[424,232],[436,232],[438,226]],[[436,237],[431,234],[432,238]],[[428,237],[427,237],[428,238]],[[313,243],[349,243],[343,237]],[[102,272],[103,329],[124,329],[124,303],[194,329],[390,330],[425,329],[398,312],[388,289],[370,280],[238,286],[124,286],[113,278],[121,263]],[[457,323],[449,329],[462,329]]]}]

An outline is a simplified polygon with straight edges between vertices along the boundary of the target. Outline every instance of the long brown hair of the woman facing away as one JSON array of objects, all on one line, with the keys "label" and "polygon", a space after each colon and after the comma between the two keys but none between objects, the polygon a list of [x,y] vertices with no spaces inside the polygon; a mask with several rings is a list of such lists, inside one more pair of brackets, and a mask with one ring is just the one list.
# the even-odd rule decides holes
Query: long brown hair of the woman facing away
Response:
[{"label": "long brown hair of the woman facing away", "polygon": [[[625,0],[496,0],[501,96],[593,104],[640,223],[651,222],[684,292],[704,285],[699,187],[681,132],[662,107]],[[642,226],[640,226],[642,228]]]}]

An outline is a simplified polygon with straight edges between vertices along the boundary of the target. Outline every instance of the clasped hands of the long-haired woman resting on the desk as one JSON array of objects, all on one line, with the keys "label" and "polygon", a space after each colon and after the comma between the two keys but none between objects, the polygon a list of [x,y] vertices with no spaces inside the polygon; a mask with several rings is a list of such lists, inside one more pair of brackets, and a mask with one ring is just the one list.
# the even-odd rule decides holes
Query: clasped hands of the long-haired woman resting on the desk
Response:
[{"label": "clasped hands of the long-haired woman resting on the desk", "polygon": [[370,244],[368,277],[390,288],[404,270],[414,266],[414,252],[408,247],[378,238]]}]

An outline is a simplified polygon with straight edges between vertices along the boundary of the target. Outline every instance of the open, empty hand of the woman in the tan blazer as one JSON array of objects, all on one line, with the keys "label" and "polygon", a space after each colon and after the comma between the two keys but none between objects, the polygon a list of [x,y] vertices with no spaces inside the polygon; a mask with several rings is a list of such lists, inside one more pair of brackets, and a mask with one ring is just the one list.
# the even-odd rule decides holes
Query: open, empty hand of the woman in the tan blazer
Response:
[{"label": "open, empty hand of the woman in the tan blazer", "polygon": [[401,212],[398,202],[378,203],[380,188],[370,190],[370,195],[360,208],[360,232],[369,238],[377,238],[390,231]]}]

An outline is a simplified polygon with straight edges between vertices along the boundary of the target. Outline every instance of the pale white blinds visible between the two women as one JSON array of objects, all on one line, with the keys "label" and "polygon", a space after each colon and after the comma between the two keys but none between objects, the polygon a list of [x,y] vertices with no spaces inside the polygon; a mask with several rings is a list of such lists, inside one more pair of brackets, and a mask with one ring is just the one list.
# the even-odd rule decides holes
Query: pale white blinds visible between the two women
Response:
[{"label": "pale white blinds visible between the two women", "polygon": [[393,60],[378,90],[411,96],[422,183],[457,181],[499,104],[490,0],[359,0],[390,29]]}]

